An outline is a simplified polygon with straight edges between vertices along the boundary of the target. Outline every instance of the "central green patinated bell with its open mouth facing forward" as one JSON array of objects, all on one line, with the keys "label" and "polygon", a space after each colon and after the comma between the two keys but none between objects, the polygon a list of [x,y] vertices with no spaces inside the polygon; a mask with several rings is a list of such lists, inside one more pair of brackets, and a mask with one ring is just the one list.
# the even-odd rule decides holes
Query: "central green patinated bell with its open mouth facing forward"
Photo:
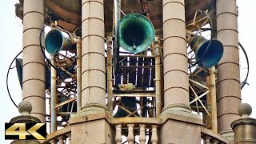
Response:
[{"label": "central green patinated bell with its open mouth facing forward", "polygon": [[120,46],[131,53],[146,50],[154,40],[154,26],[142,14],[127,14],[119,22]]}]

